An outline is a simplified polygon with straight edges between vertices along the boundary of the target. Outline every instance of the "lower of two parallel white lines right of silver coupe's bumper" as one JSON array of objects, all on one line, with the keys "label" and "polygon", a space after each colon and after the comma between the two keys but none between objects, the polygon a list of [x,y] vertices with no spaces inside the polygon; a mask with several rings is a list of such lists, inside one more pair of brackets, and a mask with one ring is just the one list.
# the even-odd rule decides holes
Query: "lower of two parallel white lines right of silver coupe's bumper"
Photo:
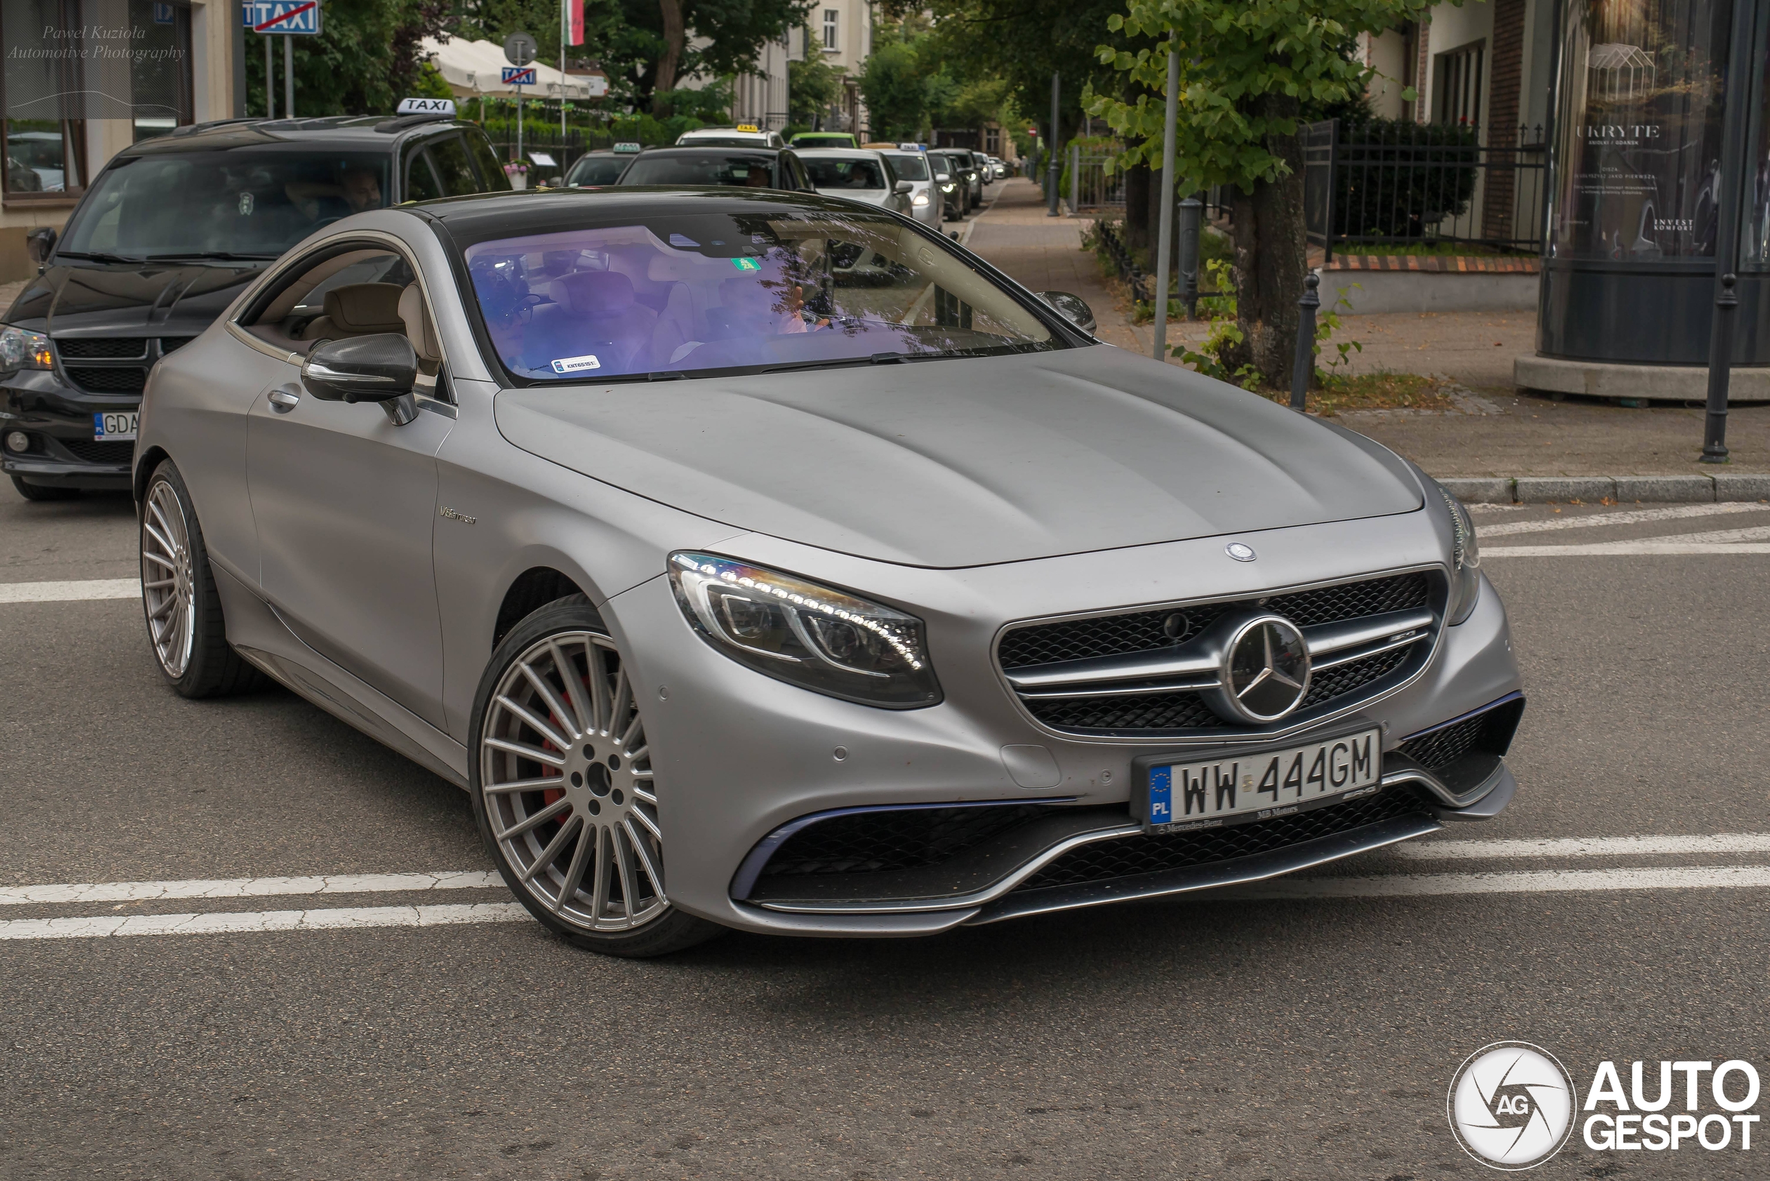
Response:
[{"label": "lower of two parallel white lines right of silver coupe's bumper", "polygon": [[1428,898],[1609,889],[1765,889],[1770,866],[1671,866],[1662,870],[1519,870],[1512,873],[1395,873],[1388,877],[1273,879],[1212,891],[1216,898]]}]

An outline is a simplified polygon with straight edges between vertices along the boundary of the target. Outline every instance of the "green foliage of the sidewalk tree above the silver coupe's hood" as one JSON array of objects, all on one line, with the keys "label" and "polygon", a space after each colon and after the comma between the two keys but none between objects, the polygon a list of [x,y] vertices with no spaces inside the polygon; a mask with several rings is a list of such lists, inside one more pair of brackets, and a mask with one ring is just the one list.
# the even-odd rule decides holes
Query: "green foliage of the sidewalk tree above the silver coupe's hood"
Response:
[{"label": "green foliage of the sidewalk tree above the silver coupe's hood", "polygon": [[[1142,159],[1159,166],[1174,48],[1181,58],[1175,166],[1182,194],[1212,184],[1251,191],[1285,171],[1271,140],[1294,136],[1299,111],[1320,111],[1365,92],[1374,71],[1347,53],[1356,37],[1414,19],[1427,7],[1427,0],[1131,0],[1106,27],[1142,44],[1097,46],[1099,62],[1119,80],[1096,88],[1087,110],[1129,143],[1124,164]],[[1135,99],[1119,97],[1126,81]]]}]

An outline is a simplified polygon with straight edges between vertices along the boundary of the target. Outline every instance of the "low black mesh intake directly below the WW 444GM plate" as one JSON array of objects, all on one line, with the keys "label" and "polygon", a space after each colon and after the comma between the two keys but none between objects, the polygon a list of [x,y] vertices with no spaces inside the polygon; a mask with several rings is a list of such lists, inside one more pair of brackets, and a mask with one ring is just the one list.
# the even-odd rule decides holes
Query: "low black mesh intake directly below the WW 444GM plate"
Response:
[{"label": "low black mesh intake directly below the WW 444GM plate", "polygon": [[1328,804],[1326,808],[1276,817],[1273,820],[1255,820],[1253,824],[1200,829],[1195,833],[1120,836],[1066,852],[1016,886],[1016,891],[1106,882],[1136,873],[1186,870],[1197,865],[1211,865],[1212,861],[1250,857],[1274,849],[1301,845],[1317,836],[1349,833],[1366,824],[1377,824],[1379,820],[1393,820],[1425,811],[1427,804],[1418,794],[1411,789],[1397,787],[1343,804]]}]

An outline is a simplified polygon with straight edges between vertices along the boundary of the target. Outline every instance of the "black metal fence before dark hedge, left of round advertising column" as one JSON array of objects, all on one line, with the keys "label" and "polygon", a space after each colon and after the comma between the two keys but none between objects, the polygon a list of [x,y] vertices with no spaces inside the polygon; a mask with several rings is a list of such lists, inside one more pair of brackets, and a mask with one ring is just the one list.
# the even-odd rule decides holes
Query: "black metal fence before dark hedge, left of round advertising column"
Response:
[{"label": "black metal fence before dark hedge, left of round advertising column", "polygon": [[[1303,221],[1336,244],[1542,249],[1543,129],[1329,118],[1303,127]],[[1345,249],[1342,249],[1345,253]]]}]

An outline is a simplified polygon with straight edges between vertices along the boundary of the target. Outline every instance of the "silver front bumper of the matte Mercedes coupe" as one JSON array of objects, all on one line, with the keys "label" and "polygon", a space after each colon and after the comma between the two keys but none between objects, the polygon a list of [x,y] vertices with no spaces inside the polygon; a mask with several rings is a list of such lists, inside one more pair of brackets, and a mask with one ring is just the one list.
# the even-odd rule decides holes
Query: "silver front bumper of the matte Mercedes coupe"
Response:
[{"label": "silver front bumper of the matte Mercedes coupe", "polygon": [[[1363,546],[1356,545],[1358,529],[1358,523],[1345,523],[1283,530],[1308,532],[1308,545],[1297,545],[1296,569],[1283,569],[1280,560],[1273,560],[1262,571],[1271,578],[1266,585],[1289,585],[1310,575],[1366,573],[1372,566],[1333,569],[1335,560],[1372,560],[1368,537]],[[1377,568],[1428,560],[1435,546],[1435,537],[1421,536],[1386,553],[1391,560]],[[1262,555],[1276,555],[1281,548],[1276,537],[1269,537]],[[949,603],[945,612],[922,610],[947,698],[915,711],[841,702],[736,665],[687,628],[664,578],[634,587],[604,606],[644,693],[641,700],[658,776],[671,900],[717,923],[802,935],[913,935],[1131,896],[1207,889],[1379,849],[1430,833],[1448,820],[1487,819],[1515,790],[1497,755],[1485,767],[1473,767],[1478,774],[1471,774],[1471,766],[1441,774],[1402,751],[1402,744],[1421,732],[1517,698],[1520,682],[1504,608],[1492,587],[1483,587],[1474,613],[1464,624],[1443,629],[1430,663],[1418,677],[1361,704],[1351,716],[1322,723],[1382,727],[1384,789],[1358,801],[1382,801],[1382,808],[1363,819],[1352,817],[1358,822],[1326,827],[1317,822],[1313,829],[1299,829],[1273,847],[1251,852],[1237,847],[1234,856],[1195,857],[1177,868],[1133,866],[1136,872],[1106,879],[1035,880],[1041,870],[1074,849],[1126,850],[1131,845],[1124,842],[1147,840],[1129,815],[1133,764],[1140,755],[1189,750],[1193,744],[1081,737],[1041,728],[1020,711],[989,668],[988,645],[995,629],[1009,619],[1073,608],[1076,594],[1083,596],[1083,603],[1089,596],[1096,596],[1094,603],[1112,603],[1106,596],[1113,592],[1099,590],[1099,585],[1197,587],[1207,576],[1200,569],[1204,552],[1221,553],[1221,539],[1202,546],[1149,546],[1131,555],[1112,552],[1050,559],[1018,569],[892,568],[901,573],[896,587],[883,585],[887,568],[880,564],[830,560],[827,553],[821,564],[812,564],[812,552],[777,539],[740,537],[722,550],[835,585],[883,592],[887,601],[906,606],[940,599],[940,587]],[[1170,562],[1170,571],[1152,569]],[[1087,578],[1067,576],[1080,569],[1087,569]],[[1243,575],[1228,573],[1232,578]],[[1062,598],[1053,599],[1057,594]],[[975,651],[961,656],[965,649]],[[1274,735],[1271,744],[1306,743],[1312,730]],[[1510,728],[1504,737],[1510,739]],[[1027,780],[1016,771],[1021,766],[1016,751],[1027,748],[1041,748],[1055,764],[1048,787],[1027,789],[1016,781]],[[1216,748],[1221,748],[1221,739]],[[765,847],[784,827],[832,811],[906,804],[1035,804],[1041,815],[1035,824],[1011,833],[1011,840],[979,847],[970,859],[943,863],[924,875],[943,880],[938,889],[926,882],[922,888],[897,882],[894,889],[864,891],[855,889],[851,880],[827,880],[812,896],[793,898],[791,891],[779,889],[779,882],[758,886],[765,877]],[[874,886],[878,882],[874,879]]]}]

